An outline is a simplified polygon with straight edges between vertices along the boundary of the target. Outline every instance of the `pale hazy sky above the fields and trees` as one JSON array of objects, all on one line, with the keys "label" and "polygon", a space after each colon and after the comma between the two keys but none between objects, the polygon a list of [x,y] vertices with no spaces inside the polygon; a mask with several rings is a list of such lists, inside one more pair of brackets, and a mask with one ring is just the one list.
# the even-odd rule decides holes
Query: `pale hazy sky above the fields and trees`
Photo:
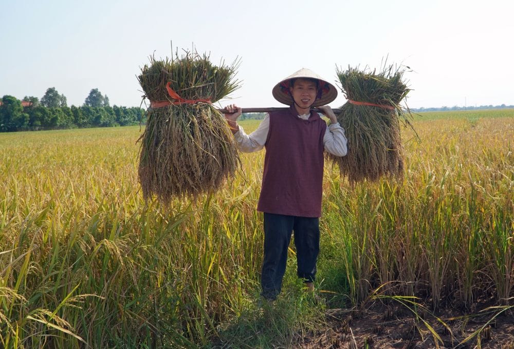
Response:
[{"label": "pale hazy sky above the fields and trees", "polygon": [[[136,75],[149,55],[240,57],[241,107],[281,106],[272,87],[305,67],[334,83],[336,66],[405,74],[411,108],[514,104],[514,2],[290,0],[0,0],[0,97],[41,99],[48,87],[80,106],[98,88],[111,105],[139,106]],[[339,91],[340,92],[340,91]],[[345,102],[339,93],[332,107]]]}]

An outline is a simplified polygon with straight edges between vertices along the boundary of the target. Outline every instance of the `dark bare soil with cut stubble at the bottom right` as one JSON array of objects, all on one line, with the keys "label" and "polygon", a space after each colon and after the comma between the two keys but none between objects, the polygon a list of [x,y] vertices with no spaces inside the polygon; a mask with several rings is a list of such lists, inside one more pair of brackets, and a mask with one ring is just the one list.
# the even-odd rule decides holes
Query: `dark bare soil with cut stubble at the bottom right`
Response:
[{"label": "dark bare soil with cut stubble at the bottom right", "polygon": [[[399,303],[373,304],[360,310],[328,309],[328,326],[316,333],[299,336],[298,348],[514,349],[514,309],[510,308],[490,321],[502,310],[489,309],[484,314],[483,309],[492,305],[492,302],[478,303],[472,312],[448,308],[437,314],[421,311],[418,314],[426,323],[416,319],[412,311]],[[429,326],[440,340],[434,339]],[[482,329],[479,334],[461,343],[479,329]]]}]

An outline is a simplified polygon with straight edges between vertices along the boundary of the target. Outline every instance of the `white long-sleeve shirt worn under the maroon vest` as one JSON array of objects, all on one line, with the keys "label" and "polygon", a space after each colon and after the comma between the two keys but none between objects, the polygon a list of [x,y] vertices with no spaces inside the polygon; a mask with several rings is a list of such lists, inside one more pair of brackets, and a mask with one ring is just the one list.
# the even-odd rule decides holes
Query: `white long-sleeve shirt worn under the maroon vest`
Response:
[{"label": "white long-sleeve shirt worn under the maroon vest", "polygon": [[[309,116],[310,113],[298,115],[298,117],[303,120],[307,120]],[[264,144],[268,139],[268,131],[269,114],[266,114],[259,127],[250,134],[246,134],[245,130],[239,126],[239,130],[234,134],[237,148],[242,152],[261,150],[264,148]],[[325,135],[323,136],[323,147],[325,151],[336,157],[346,155],[346,136],[344,135],[344,128],[342,128],[339,123],[331,124],[327,127]]]}]

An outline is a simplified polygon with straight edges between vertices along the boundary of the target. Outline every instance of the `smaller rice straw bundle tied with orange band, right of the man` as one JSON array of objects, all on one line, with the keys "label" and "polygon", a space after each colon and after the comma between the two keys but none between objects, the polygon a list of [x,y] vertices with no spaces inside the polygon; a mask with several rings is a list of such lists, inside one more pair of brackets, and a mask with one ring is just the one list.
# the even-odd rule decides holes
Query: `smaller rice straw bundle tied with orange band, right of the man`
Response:
[{"label": "smaller rice straw bundle tied with orange band, right of the man", "polygon": [[338,115],[348,140],[348,152],[345,157],[329,159],[339,165],[341,176],[347,177],[351,184],[403,175],[399,123],[412,127],[407,119],[408,107],[404,110],[400,106],[410,91],[402,82],[403,72],[392,65],[384,65],[379,73],[351,67],[346,71],[337,69],[341,89],[348,100]]}]

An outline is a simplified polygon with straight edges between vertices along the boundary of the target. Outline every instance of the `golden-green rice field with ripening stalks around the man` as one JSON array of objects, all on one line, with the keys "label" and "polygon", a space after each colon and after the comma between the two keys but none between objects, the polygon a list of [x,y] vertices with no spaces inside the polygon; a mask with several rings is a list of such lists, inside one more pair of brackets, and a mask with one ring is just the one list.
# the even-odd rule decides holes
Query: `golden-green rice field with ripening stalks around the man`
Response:
[{"label": "golden-green rice field with ripening stalks around the man", "polygon": [[242,154],[215,195],[162,206],[138,184],[139,127],[0,133],[0,347],[287,347],[377,289],[434,310],[512,305],[514,110],[413,125],[400,182],[350,186],[326,163],[317,287],[329,299],[305,297],[291,244],[271,325],[258,304],[264,152]]}]

